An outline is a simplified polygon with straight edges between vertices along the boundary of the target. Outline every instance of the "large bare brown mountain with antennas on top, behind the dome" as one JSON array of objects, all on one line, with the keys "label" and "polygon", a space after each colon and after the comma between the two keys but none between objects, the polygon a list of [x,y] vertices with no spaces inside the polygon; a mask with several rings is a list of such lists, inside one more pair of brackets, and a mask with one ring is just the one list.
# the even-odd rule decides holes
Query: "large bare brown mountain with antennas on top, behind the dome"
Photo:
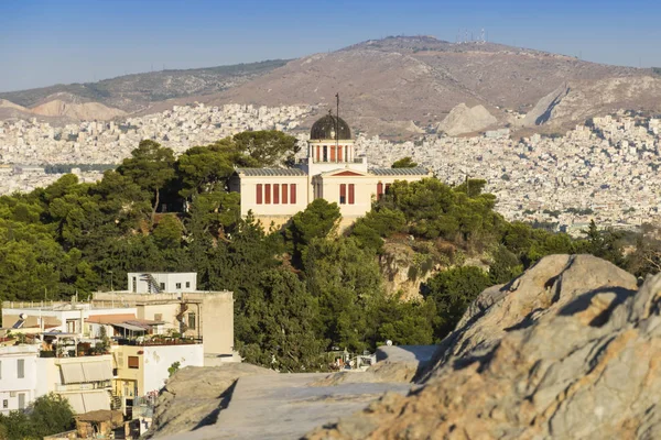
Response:
[{"label": "large bare brown mountain with antennas on top, behind the dome", "polygon": [[[339,91],[342,111],[353,125],[373,134],[395,134],[402,131],[398,127],[411,120],[419,127],[437,124],[459,103],[483,105],[505,124],[509,120],[499,107],[529,111],[566,81],[619,78],[628,82],[650,73],[491,43],[388,37],[292,61],[252,81],[209,95],[204,101],[334,108],[334,96]],[[635,100],[636,96],[627,99]],[[620,101],[616,92],[611,107]],[[593,103],[586,102],[581,113],[590,113]]]}]

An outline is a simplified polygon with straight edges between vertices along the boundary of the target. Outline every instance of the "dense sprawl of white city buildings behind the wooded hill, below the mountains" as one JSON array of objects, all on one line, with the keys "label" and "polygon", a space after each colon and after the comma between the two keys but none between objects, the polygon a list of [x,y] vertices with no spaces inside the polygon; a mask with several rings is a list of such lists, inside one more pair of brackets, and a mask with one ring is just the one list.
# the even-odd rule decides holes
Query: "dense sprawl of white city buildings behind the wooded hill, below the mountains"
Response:
[{"label": "dense sprawl of white city buildings behind the wooded hill, below the mountains", "polygon": [[[52,127],[45,122],[0,122],[0,194],[30,191],[61,174],[47,165],[71,165],[82,182],[101,177],[80,165],[119,164],[142,139],[151,139],[181,154],[248,130],[282,130],[300,142],[297,130],[312,107],[178,106],[170,111],[121,122],[85,121]],[[509,220],[557,224],[577,232],[594,219],[604,227],[636,228],[659,216],[657,169],[661,124],[620,111],[594,118],[564,136],[516,140],[508,130],[474,138],[425,135],[392,143],[359,135],[358,153],[369,162],[390,166],[411,156],[451,184],[466,177],[484,178],[498,198],[497,210]],[[632,196],[635,194],[635,196]]]}]

